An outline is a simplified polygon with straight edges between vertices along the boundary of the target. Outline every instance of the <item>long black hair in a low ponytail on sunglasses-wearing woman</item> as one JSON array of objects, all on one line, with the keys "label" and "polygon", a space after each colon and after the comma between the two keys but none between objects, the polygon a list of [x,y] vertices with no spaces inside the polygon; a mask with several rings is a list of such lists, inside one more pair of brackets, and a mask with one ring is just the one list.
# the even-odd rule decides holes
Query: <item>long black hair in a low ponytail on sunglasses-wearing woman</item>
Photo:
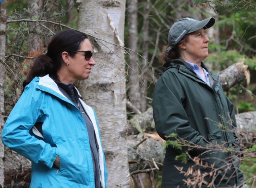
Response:
[{"label": "long black hair in a low ponytail on sunglasses-wearing woman", "polygon": [[58,32],[48,44],[47,53],[39,55],[33,62],[28,72],[27,79],[23,82],[23,88],[28,85],[35,76],[56,75],[63,63],[61,53],[68,52],[71,57],[79,50],[81,42],[88,38],[86,34],[67,29]]}]

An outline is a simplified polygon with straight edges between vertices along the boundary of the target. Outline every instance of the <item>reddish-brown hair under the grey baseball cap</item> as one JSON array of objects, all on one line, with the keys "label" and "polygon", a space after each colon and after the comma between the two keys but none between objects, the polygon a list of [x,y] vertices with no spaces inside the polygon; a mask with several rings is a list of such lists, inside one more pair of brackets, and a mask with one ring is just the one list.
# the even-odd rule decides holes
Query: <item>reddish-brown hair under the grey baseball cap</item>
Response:
[{"label": "reddish-brown hair under the grey baseball cap", "polygon": [[179,41],[179,43],[178,43],[174,48],[172,48],[172,49],[169,51],[167,58],[165,58],[165,52],[166,52],[167,48],[169,47],[169,45],[163,46],[162,52],[161,52],[161,54],[160,54],[160,62],[165,63],[165,62],[171,61],[172,59],[177,59],[177,58],[179,58],[179,57],[180,57],[179,45],[182,44],[183,42],[187,42],[187,41],[188,41],[188,35],[189,35],[189,34],[185,35],[185,36]]}]

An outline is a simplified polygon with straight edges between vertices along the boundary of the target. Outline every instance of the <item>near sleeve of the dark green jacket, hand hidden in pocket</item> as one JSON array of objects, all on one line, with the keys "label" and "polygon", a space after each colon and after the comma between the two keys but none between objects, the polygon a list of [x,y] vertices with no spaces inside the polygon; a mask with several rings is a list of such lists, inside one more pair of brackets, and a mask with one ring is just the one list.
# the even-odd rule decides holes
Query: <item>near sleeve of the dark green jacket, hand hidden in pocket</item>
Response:
[{"label": "near sleeve of the dark green jacket, hand hidden in pocket", "polygon": [[[160,137],[175,133],[179,138],[189,141],[190,144],[206,146],[207,142],[198,131],[189,124],[183,102],[185,93],[175,73],[166,71],[157,81],[153,95],[153,117],[156,130]],[[194,148],[193,153],[200,154],[204,150]]]}]

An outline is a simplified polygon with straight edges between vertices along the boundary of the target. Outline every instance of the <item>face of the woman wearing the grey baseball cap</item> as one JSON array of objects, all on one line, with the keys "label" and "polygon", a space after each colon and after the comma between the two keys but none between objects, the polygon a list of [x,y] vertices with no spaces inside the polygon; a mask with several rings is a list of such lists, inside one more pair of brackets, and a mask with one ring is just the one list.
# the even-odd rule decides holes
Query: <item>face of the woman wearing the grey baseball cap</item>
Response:
[{"label": "face of the woman wearing the grey baseball cap", "polygon": [[190,33],[187,41],[179,45],[181,57],[191,63],[201,63],[209,55],[208,42],[203,28]]}]

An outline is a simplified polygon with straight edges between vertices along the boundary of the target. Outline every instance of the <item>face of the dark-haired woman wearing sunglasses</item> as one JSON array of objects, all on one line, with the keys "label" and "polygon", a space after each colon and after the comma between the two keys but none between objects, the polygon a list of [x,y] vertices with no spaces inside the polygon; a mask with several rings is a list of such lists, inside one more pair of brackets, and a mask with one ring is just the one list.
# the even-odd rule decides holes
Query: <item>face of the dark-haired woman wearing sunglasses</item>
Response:
[{"label": "face of the dark-haired woman wearing sunglasses", "polygon": [[[77,51],[93,51],[90,41],[86,38],[81,42]],[[77,52],[73,57],[69,56],[69,64],[67,67],[68,74],[73,81],[86,80],[89,78],[91,66],[95,65],[93,57],[89,60],[85,59],[84,52]]]}]

